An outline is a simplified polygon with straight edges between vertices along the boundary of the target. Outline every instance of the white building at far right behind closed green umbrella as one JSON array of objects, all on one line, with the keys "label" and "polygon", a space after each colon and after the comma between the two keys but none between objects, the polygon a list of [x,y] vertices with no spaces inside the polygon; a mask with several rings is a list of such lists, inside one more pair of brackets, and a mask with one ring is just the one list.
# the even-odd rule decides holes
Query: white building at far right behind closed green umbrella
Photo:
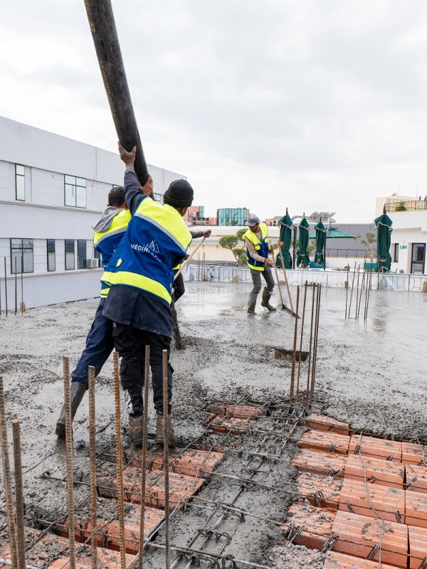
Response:
[{"label": "white building at far right behind closed green umbrella", "polygon": [[426,274],[427,198],[389,196],[376,198],[376,217],[383,208],[391,225],[391,271],[408,275]]}]

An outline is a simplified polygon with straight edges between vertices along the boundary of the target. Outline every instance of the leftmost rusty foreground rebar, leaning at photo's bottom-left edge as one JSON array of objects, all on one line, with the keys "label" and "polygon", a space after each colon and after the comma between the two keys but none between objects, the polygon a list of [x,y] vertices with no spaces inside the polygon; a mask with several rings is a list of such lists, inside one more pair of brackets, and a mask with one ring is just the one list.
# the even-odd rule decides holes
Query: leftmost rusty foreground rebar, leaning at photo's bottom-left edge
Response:
[{"label": "leftmost rusty foreground rebar, leaning at photo's bottom-left edge", "polygon": [[7,525],[11,547],[12,567],[18,567],[18,551],[16,548],[16,526],[14,513],[14,494],[12,491],[11,463],[9,461],[9,445],[6,427],[6,399],[4,397],[3,378],[0,377],[0,442],[1,464],[3,464],[4,494],[6,496]]}]

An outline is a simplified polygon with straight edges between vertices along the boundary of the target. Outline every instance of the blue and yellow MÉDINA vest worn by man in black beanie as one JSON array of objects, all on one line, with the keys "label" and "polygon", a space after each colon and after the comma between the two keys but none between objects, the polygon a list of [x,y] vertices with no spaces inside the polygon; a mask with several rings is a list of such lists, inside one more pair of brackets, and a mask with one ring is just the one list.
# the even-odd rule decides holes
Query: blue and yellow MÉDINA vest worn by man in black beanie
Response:
[{"label": "blue and yellow M\u00c9DINA vest worn by man in black beanie", "polygon": [[170,304],[173,263],[185,256],[190,243],[190,232],[175,208],[144,198],[101,280],[145,290]]}]

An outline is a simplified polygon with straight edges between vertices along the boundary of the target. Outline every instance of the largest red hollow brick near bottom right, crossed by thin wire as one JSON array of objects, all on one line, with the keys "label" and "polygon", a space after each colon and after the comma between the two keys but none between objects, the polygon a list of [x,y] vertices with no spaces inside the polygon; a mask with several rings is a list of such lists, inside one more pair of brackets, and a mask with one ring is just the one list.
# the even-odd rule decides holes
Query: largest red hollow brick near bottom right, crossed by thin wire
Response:
[{"label": "largest red hollow brick near bottom right, crossed by thin wire", "polygon": [[[333,551],[366,559],[381,543],[381,562],[406,569],[408,528],[404,523],[380,520],[337,511],[332,532],[337,534]],[[378,552],[373,560],[379,559]]]}]

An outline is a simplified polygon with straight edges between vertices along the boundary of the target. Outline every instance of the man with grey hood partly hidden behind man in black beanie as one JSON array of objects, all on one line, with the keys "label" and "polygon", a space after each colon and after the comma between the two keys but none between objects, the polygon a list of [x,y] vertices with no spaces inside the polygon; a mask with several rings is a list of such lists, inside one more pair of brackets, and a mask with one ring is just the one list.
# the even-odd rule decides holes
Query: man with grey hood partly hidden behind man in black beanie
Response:
[{"label": "man with grey hood partly hidden behind man in black beanie", "polygon": [[[142,188],[142,191],[149,195],[152,189],[153,180],[149,176],[147,184]],[[128,211],[125,203],[125,191],[122,186],[115,186],[108,193],[107,208],[93,226],[95,232],[93,244],[95,245],[95,250],[101,255],[104,267],[110,262],[112,254],[122,240],[130,218],[130,211]],[[109,289],[110,287],[101,283],[101,299],[86,338],[85,349],[75,370],[71,373],[71,420],[73,420],[83,395],[85,395],[85,391],[88,389],[88,367],[93,366],[95,368],[95,376],[97,376],[114,348],[112,321],[102,315],[102,309],[104,308]],[[64,406],[56,422],[56,435],[62,438],[65,437]]]}]

